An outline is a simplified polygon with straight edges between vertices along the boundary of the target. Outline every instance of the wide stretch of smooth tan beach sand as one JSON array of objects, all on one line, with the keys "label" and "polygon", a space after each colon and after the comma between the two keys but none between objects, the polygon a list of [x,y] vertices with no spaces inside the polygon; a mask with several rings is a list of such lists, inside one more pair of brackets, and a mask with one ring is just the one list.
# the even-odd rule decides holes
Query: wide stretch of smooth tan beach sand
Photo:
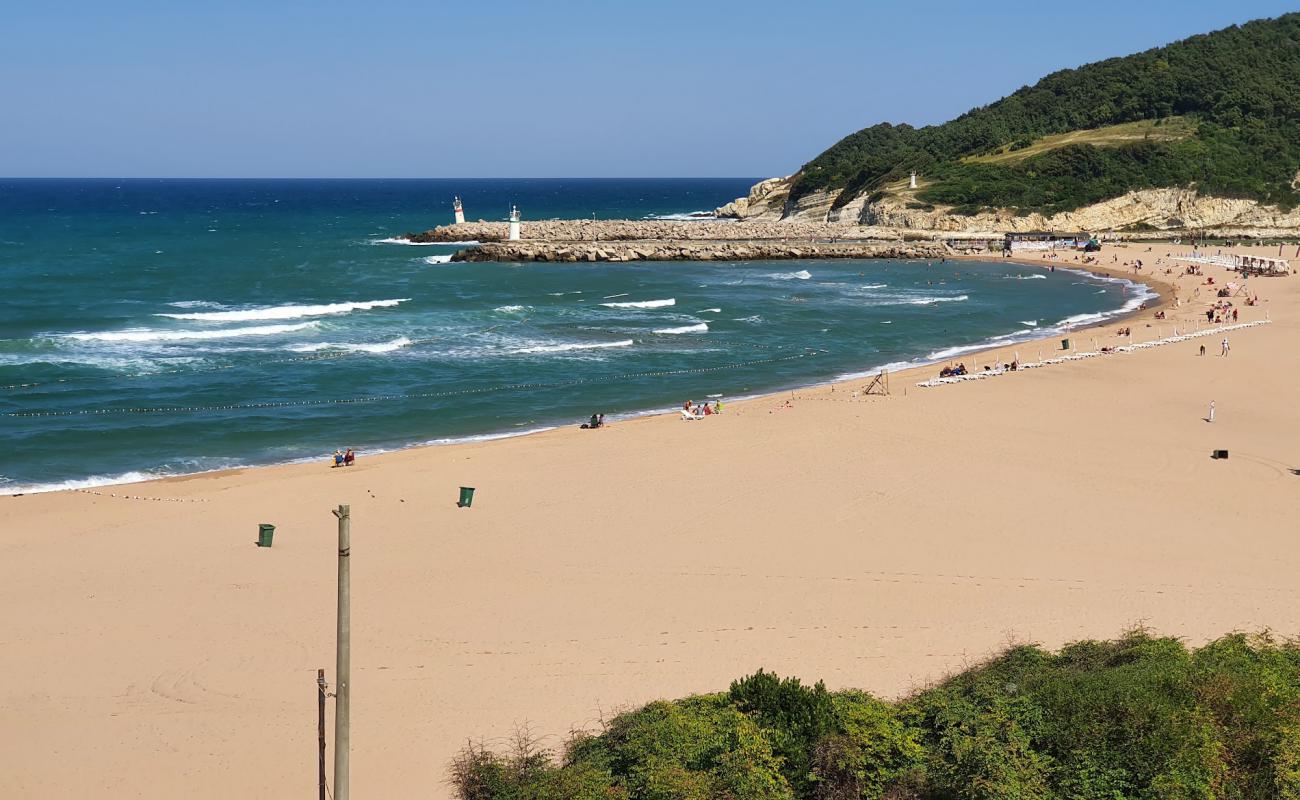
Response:
[{"label": "wide stretch of smooth tan beach sand", "polygon": [[[1187,248],[1145,250],[1102,264]],[[1200,280],[1166,321],[1071,338],[1204,324]],[[924,368],[889,397],[0,498],[0,795],[315,796],[341,502],[356,796],[447,796],[467,738],[558,743],[760,666],[898,696],[1013,640],[1295,635],[1300,278],[1251,290],[1242,320],[1274,323],[1227,358],[1213,336],[918,389]]]}]

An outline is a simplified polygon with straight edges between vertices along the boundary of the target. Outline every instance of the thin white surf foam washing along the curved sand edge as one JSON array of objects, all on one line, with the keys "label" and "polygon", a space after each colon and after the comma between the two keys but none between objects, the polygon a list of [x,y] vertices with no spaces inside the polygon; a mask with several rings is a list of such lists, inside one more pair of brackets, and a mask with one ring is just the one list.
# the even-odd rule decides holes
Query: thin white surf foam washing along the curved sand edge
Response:
[{"label": "thin white surf foam washing along the curved sand edge", "polygon": [[[992,256],[992,255],[948,255],[945,258],[952,259],[952,260],[983,261],[983,263],[993,263],[993,264],[1018,264],[1020,267],[1032,267],[1032,268],[1037,268],[1037,269],[1046,269],[1049,267],[1049,264],[1045,264],[1041,260],[1040,261],[1035,261],[1032,259],[1027,259],[1027,258],[1023,258],[1023,256],[1002,258],[1002,256]],[[774,259],[774,260],[781,260],[781,259]],[[810,259],[810,260],[815,260],[815,259]],[[1174,294],[1175,294],[1174,286],[1171,284],[1167,284],[1167,282],[1161,281],[1161,280],[1158,280],[1156,277],[1152,277],[1152,276],[1134,276],[1132,273],[1124,273],[1124,272],[1122,272],[1119,269],[1112,269],[1112,268],[1108,268],[1105,265],[1098,265],[1098,264],[1087,264],[1087,265],[1056,264],[1056,267],[1060,268],[1060,269],[1074,269],[1076,272],[1083,272],[1083,273],[1091,274],[1093,277],[1102,277],[1102,278],[1109,278],[1109,280],[1123,280],[1123,281],[1127,281],[1130,284],[1135,284],[1138,286],[1145,287],[1148,291],[1153,293],[1156,297],[1154,297],[1153,300],[1150,300],[1147,304],[1145,308],[1132,308],[1132,310],[1128,310],[1128,311],[1117,310],[1114,312],[1109,312],[1112,316],[1105,316],[1105,319],[1102,319],[1102,320],[1097,320],[1097,321],[1092,321],[1092,323],[1087,323],[1087,324],[1080,324],[1080,327],[1078,327],[1078,328],[1063,327],[1063,328],[1060,328],[1058,330],[1056,330],[1053,333],[1044,333],[1043,336],[1036,336],[1036,337],[1031,337],[1031,338],[1027,338],[1027,340],[1009,341],[1009,342],[1005,342],[1005,343],[1001,343],[1001,345],[991,343],[987,338],[983,342],[953,343],[953,345],[948,345],[945,347],[941,347],[939,351],[952,350],[952,349],[974,347],[974,350],[963,350],[961,353],[961,356],[962,358],[979,358],[982,355],[996,353],[996,351],[1002,350],[1005,347],[1014,347],[1014,346],[1018,346],[1018,345],[1028,346],[1028,345],[1035,345],[1035,343],[1043,343],[1043,342],[1050,341],[1052,338],[1054,338],[1057,336],[1061,336],[1062,333],[1086,334],[1089,330],[1095,330],[1095,329],[1100,330],[1100,329],[1102,329],[1102,328],[1105,328],[1108,325],[1114,325],[1114,324],[1118,324],[1118,323],[1122,323],[1122,321],[1126,321],[1126,320],[1131,320],[1131,319],[1134,319],[1134,317],[1136,317],[1136,316],[1139,316],[1141,313],[1147,313],[1147,312],[1154,313],[1156,311],[1166,308],[1173,302],[1173,298],[1174,298]],[[1105,315],[1108,312],[1098,312],[1098,313]],[[1013,334],[1004,334],[1004,336],[1013,336]],[[984,346],[984,345],[987,345],[987,346]],[[927,360],[927,359],[924,359],[924,356],[918,356],[916,359],[910,359],[909,362],[904,362],[904,364],[907,364],[907,366],[898,367],[896,369],[888,369],[888,372],[889,372],[890,379],[900,379],[900,380],[911,381],[913,379],[915,379],[915,377],[919,376],[919,373],[920,373],[922,369],[930,369],[935,364],[946,363],[949,360],[953,360],[953,359],[946,359],[945,358],[945,359],[928,359]],[[838,386],[838,385],[844,385],[844,384],[849,384],[849,382],[854,382],[854,381],[861,381],[861,380],[863,380],[866,377],[871,377],[871,376],[876,375],[880,369],[884,369],[885,367],[889,367],[889,366],[890,364],[875,364],[875,366],[864,367],[862,371],[840,372],[836,376],[826,377],[826,379],[820,379],[820,380],[815,380],[815,381],[811,381],[811,382],[801,382],[801,384],[793,384],[793,385],[786,385],[786,386],[776,386],[776,388],[772,388],[772,389],[763,389],[763,390],[753,393],[753,394],[745,394],[745,395],[737,395],[737,397],[729,398],[727,402],[728,402],[728,406],[731,406],[732,403],[736,403],[736,405],[750,403],[750,402],[764,401],[764,399],[772,398],[775,395],[786,394],[786,393],[792,393],[792,392],[811,390],[811,389],[819,389],[819,388],[827,388],[827,386]],[[612,414],[612,415],[610,415],[611,416],[610,421],[611,423],[619,423],[619,424],[627,424],[627,423],[632,423],[632,421],[637,421],[637,420],[653,419],[653,418],[656,418],[656,416],[672,415],[675,412],[676,412],[676,407],[675,406],[673,407],[658,407],[658,408],[640,408],[640,410],[633,410],[633,411],[624,411],[624,412],[619,412],[619,414]],[[569,429],[569,428],[576,428],[577,424],[578,423],[573,421],[573,420],[567,420],[567,421],[559,421],[559,420],[556,420],[555,423],[542,423],[540,427],[530,428],[528,431],[519,431],[519,432],[511,432],[511,431],[489,431],[489,432],[482,432],[482,433],[467,433],[464,436],[443,437],[442,440],[438,440],[438,438],[436,438],[436,440],[426,440],[426,441],[411,442],[411,444],[404,444],[404,445],[396,445],[396,446],[391,446],[391,447],[382,447],[382,449],[377,449],[377,450],[368,450],[368,451],[363,451],[363,453],[364,453],[364,457],[367,458],[367,460],[369,460],[369,459],[374,459],[374,458],[390,457],[390,455],[393,455],[395,453],[420,451],[420,450],[433,449],[433,447],[460,447],[460,446],[465,446],[465,445],[477,445],[477,444],[484,444],[484,442],[495,442],[495,441],[503,441],[503,440],[514,440],[514,438],[526,438],[526,437],[534,437],[534,436],[545,436],[545,434],[549,434],[549,433],[555,433],[555,432],[559,432],[559,431],[566,431],[566,429]],[[90,476],[86,476],[86,477],[69,479],[66,481],[61,481],[60,484],[35,484],[35,485],[30,485],[30,487],[21,487],[22,488],[21,492],[9,492],[9,490],[5,490],[3,487],[0,487],[0,497],[30,497],[30,496],[38,496],[38,494],[55,494],[55,493],[60,493],[60,492],[82,492],[82,493],[91,493],[91,494],[105,494],[105,496],[112,497],[112,496],[114,496],[117,493],[116,492],[96,492],[96,490],[98,489],[110,489],[113,487],[139,487],[139,485],[143,485],[143,484],[168,484],[168,483],[172,483],[172,481],[190,481],[190,480],[204,479],[204,477],[220,477],[220,476],[225,476],[225,475],[242,475],[242,473],[246,473],[248,471],[259,471],[259,470],[292,468],[292,467],[304,467],[307,464],[317,464],[318,466],[318,464],[321,464],[325,460],[328,460],[325,455],[311,455],[311,457],[294,458],[294,459],[281,460],[281,462],[252,463],[252,464],[244,464],[244,466],[237,466],[237,467],[220,467],[220,468],[216,468],[216,470],[203,470],[203,471],[198,471],[198,472],[182,472],[182,473],[177,473],[177,475],[155,475],[155,476],[148,476],[147,472],[143,471],[143,470],[130,470],[130,471],[122,473],[122,476],[126,476],[126,475],[146,475],[146,476],[140,477],[138,480],[117,481],[117,480],[113,480],[113,479],[121,477],[121,476],[98,476],[98,475],[90,475]],[[103,483],[90,483],[90,481],[96,481],[99,479],[104,479]],[[82,484],[82,485],[62,485],[62,484]]]}]

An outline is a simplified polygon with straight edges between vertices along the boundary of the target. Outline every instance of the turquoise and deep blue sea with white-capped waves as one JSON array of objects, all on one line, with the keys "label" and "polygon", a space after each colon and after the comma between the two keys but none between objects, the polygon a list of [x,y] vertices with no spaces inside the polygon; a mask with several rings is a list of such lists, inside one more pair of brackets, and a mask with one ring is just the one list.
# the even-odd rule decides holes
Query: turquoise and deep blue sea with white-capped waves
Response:
[{"label": "turquoise and deep blue sea with white-capped waves", "polygon": [[751,178],[0,180],[0,493],[737,398],[1063,332],[1147,299],[931,261],[450,264],[467,216],[654,217]]}]

